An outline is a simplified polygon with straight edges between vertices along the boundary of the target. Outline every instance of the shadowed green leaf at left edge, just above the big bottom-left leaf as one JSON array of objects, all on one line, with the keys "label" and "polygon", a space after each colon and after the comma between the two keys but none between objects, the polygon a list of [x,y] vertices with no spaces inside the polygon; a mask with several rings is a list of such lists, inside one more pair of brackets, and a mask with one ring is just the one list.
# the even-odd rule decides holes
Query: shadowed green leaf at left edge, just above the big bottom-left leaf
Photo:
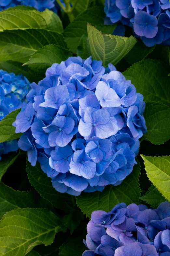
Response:
[{"label": "shadowed green leaf at left edge, just above the big bottom-left leaf", "polygon": [[13,209],[26,207],[35,207],[34,190],[16,191],[3,182],[0,183],[0,219]]}]

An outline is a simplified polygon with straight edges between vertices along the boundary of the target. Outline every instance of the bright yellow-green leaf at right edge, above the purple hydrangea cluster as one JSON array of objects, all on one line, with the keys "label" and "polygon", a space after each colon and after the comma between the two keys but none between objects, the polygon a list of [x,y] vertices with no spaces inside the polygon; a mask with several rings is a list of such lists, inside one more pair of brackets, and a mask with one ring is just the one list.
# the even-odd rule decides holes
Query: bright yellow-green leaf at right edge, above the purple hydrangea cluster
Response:
[{"label": "bright yellow-green leaf at right edge, above the purple hydrangea cluster", "polygon": [[141,157],[149,180],[170,201],[170,156]]}]

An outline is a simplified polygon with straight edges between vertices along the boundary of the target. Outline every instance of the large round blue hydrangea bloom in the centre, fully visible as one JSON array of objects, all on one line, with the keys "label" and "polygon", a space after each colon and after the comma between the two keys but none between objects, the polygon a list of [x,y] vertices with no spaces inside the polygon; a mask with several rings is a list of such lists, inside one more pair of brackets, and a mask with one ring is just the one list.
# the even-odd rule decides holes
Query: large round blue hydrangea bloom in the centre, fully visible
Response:
[{"label": "large round blue hydrangea bloom in the centre, fully visible", "polygon": [[24,132],[18,145],[57,191],[102,191],[132,172],[146,132],[145,102],[112,64],[105,70],[91,57],[69,57],[30,86],[14,123]]}]

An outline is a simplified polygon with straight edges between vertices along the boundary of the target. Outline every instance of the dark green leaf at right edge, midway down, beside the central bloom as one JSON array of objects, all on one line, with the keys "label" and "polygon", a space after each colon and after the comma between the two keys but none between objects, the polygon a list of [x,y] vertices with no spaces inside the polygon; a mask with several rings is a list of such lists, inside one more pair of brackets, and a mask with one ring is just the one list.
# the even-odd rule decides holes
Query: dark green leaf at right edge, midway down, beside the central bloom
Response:
[{"label": "dark green leaf at right edge, midway down, beside the central bloom", "polygon": [[170,108],[159,102],[147,102],[144,117],[147,133],[142,139],[163,144],[170,139]]}]

